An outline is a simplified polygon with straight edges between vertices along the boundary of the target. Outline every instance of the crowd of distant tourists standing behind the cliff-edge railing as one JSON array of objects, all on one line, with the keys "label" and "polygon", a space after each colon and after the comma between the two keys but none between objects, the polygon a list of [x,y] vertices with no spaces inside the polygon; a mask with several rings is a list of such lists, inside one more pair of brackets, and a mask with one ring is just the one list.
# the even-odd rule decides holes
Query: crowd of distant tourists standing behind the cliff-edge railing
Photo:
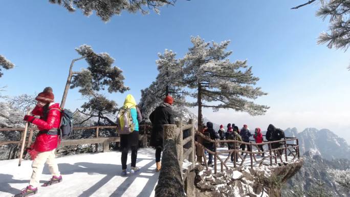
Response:
[{"label": "crowd of distant tourists standing behind the cliff-edge railing", "polygon": [[[223,125],[220,125],[220,129],[218,129],[217,132],[213,129],[213,123],[212,122],[207,122],[206,125],[203,125],[203,130],[202,133],[204,136],[208,137],[211,140],[215,139],[220,139],[222,140],[235,140],[238,142],[246,142],[249,143],[252,141],[251,137],[253,137],[255,143],[257,144],[257,151],[258,151],[258,156],[265,157],[265,152],[264,152],[264,147],[261,143],[264,142],[264,136],[261,133],[261,129],[259,127],[255,128],[254,134],[251,134],[248,125],[244,124],[243,128],[239,130],[238,126],[235,124],[227,124],[227,129],[225,130]],[[267,128],[267,132],[265,135],[267,141],[279,141],[283,138],[285,138],[285,133],[283,132],[282,129],[276,128],[273,124],[270,124]],[[205,148],[211,151],[215,151],[215,146],[213,142],[210,142],[208,140],[203,140],[201,138],[198,138],[197,141],[199,143],[203,144]],[[233,143],[233,142],[219,142],[220,147],[225,147],[227,145],[228,149],[240,149],[241,155],[244,155],[244,151],[246,150],[246,144],[245,143]],[[214,146],[215,145],[215,146]],[[276,142],[276,143],[271,143],[271,148],[279,148],[281,146],[281,143]],[[251,146],[247,145],[247,151],[252,151]],[[282,150],[279,149],[279,154],[282,155]],[[261,152],[261,153],[260,153]],[[197,151],[197,161],[203,163],[202,161],[202,151]],[[238,154],[236,152],[236,154]],[[213,166],[212,164],[212,154],[208,152],[208,166]],[[238,156],[234,157],[234,154],[231,154],[231,161],[233,162],[234,158],[236,158],[236,162],[238,161]]]}]

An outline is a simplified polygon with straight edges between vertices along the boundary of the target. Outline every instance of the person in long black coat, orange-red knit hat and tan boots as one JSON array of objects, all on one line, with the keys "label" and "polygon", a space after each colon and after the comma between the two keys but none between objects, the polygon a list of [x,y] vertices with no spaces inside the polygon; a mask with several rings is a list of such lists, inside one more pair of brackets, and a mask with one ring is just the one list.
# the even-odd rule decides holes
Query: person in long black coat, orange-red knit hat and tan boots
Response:
[{"label": "person in long black coat, orange-red knit hat and tan boots", "polygon": [[163,150],[163,125],[175,124],[172,112],[172,103],[174,100],[171,96],[166,96],[164,102],[161,103],[149,115],[149,120],[152,123],[152,133],[150,139],[150,146],[156,148],[156,171],[161,169],[161,153]]}]

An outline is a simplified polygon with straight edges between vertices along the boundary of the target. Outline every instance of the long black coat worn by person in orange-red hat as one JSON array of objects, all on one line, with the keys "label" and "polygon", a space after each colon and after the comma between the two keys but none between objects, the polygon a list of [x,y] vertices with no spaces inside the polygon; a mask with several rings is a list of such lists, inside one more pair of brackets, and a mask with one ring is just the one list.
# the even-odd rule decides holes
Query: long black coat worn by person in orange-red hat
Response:
[{"label": "long black coat worn by person in orange-red hat", "polygon": [[152,123],[150,146],[163,146],[163,125],[175,124],[170,105],[163,103],[158,106],[155,111],[149,115],[149,120]]}]

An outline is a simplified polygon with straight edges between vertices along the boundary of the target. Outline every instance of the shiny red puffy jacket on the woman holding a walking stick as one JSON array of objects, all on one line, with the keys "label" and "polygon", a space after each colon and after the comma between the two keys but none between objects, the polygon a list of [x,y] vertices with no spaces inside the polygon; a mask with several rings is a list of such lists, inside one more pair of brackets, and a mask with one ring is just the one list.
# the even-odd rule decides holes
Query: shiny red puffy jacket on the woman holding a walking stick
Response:
[{"label": "shiny red puffy jacket on the woman holding a walking stick", "polygon": [[[49,106],[49,113],[46,120],[43,120],[43,108],[35,106],[32,114],[40,116],[40,119],[34,119],[33,124],[38,126],[40,131],[50,130],[52,128],[58,128],[61,121],[61,111],[59,104],[55,103]],[[35,142],[32,145],[32,149],[38,152],[50,151],[57,148],[60,143],[57,135],[48,135],[46,133],[39,133],[36,136]]]}]

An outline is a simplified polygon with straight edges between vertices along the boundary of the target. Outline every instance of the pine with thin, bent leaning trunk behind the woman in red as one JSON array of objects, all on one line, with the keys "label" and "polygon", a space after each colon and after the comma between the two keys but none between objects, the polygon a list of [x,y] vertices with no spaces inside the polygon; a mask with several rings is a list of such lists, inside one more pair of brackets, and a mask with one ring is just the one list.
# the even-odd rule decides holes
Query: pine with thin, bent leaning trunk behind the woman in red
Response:
[{"label": "pine with thin, bent leaning trunk behind the woman in red", "polygon": [[[102,119],[107,124],[114,124],[105,114],[116,113],[118,110],[117,103],[113,100],[108,100],[98,92],[106,88],[108,93],[123,93],[129,90],[129,87],[124,86],[123,71],[112,65],[114,63],[114,58],[108,53],[95,53],[91,46],[88,45],[82,45],[75,50],[81,57],[74,59],[71,63],[67,84],[62,97],[61,108],[64,107],[69,87],[71,89],[78,87],[81,95],[89,99],[88,102],[85,102],[81,106],[83,110],[80,112],[88,113],[90,118],[97,117],[98,123],[100,123]],[[88,68],[81,69],[80,72],[73,72],[72,68],[74,62],[80,59],[86,60]]]}]

